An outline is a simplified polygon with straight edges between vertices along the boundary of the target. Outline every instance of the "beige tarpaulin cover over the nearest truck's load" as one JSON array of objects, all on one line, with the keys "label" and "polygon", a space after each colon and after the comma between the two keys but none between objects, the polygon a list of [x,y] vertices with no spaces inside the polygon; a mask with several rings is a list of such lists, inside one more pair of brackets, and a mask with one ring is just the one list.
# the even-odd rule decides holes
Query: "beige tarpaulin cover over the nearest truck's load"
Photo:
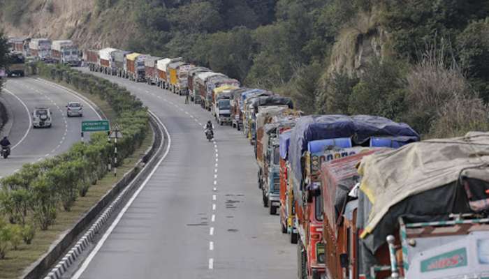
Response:
[{"label": "beige tarpaulin cover over the nearest truck's load", "polygon": [[[403,199],[457,181],[462,176],[489,180],[489,133],[427,140],[363,158],[360,190],[372,203],[362,238],[391,206]],[[474,167],[485,166],[482,169]],[[467,169],[472,168],[472,169]]]}]

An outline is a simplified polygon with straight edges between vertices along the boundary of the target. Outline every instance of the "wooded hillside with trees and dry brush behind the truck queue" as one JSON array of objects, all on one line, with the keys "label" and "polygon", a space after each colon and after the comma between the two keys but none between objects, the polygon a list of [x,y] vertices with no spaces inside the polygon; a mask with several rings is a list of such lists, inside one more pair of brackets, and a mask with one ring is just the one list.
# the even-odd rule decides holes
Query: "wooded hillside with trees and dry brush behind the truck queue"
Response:
[{"label": "wooded hillside with trees and dry brush behind the truck queue", "polygon": [[184,56],[309,114],[377,114],[424,137],[488,127],[488,0],[97,3],[130,7],[138,31],[120,47]]}]

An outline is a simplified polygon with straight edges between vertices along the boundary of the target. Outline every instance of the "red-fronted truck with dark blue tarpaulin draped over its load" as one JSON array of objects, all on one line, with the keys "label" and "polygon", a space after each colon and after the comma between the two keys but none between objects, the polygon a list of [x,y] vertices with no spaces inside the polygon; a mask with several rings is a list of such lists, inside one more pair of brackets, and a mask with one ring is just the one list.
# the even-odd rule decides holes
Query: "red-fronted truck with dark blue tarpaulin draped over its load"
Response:
[{"label": "red-fronted truck with dark blue tarpaulin draped over its load", "polygon": [[321,256],[323,246],[317,245],[321,243],[323,227],[321,192],[318,189],[321,186],[320,164],[332,156],[324,153],[334,152],[331,151],[334,147],[367,146],[371,137],[388,137],[404,143],[419,140],[418,133],[407,124],[380,116],[302,116],[292,129],[289,162],[295,213],[292,218],[299,236],[299,278],[325,276],[324,256]]}]

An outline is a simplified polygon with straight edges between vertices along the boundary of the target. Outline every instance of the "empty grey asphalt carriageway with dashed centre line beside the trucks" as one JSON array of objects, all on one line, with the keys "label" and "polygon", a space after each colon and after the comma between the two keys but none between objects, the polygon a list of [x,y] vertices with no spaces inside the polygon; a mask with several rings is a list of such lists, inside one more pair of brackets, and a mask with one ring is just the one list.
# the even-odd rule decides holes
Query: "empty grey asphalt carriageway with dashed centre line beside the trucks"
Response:
[{"label": "empty grey asphalt carriageway with dashed centre line beside the trucks", "polygon": [[[87,72],[87,69],[82,69]],[[168,156],[73,278],[295,278],[295,246],[261,204],[252,146],[200,105],[156,86],[126,86],[165,123]],[[124,131],[122,131],[124,133]]]}]

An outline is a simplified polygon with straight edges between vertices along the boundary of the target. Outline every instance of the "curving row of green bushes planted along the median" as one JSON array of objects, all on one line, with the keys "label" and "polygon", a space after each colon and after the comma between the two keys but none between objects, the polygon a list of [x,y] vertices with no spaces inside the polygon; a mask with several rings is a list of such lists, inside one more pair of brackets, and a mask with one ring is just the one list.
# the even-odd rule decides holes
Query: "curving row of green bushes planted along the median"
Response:
[{"label": "curving row of green bushes planted along the median", "polygon": [[[119,162],[143,143],[149,129],[147,110],[129,91],[66,66],[36,63],[33,68],[43,77],[66,82],[109,103],[124,133],[124,138],[117,142]],[[9,243],[16,247],[19,239],[31,242],[35,233],[34,223],[40,229],[48,229],[56,220],[60,205],[65,211],[71,210],[78,196],[85,196],[90,185],[107,173],[113,150],[106,133],[93,133],[88,144],[73,144],[59,156],[23,165],[19,172],[1,179],[0,209],[10,223],[20,225],[14,226],[15,236],[6,233],[5,239],[8,238]],[[34,219],[33,224],[27,223],[28,217]],[[4,244],[4,250],[10,244]]]}]

